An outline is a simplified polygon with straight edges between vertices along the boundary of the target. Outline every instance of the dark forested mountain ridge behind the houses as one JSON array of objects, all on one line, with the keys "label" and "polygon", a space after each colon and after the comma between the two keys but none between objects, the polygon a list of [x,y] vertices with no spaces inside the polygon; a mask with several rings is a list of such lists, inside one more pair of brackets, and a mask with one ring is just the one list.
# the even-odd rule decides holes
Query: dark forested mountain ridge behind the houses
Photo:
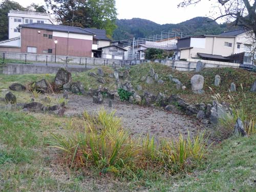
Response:
[{"label": "dark forested mountain ridge behind the houses", "polygon": [[217,35],[224,31],[237,29],[232,24],[218,24],[208,17],[194,17],[179,24],[157,24],[148,19],[117,19],[114,40],[132,40],[133,37],[146,37],[161,34],[161,31],[184,32],[187,35]]}]

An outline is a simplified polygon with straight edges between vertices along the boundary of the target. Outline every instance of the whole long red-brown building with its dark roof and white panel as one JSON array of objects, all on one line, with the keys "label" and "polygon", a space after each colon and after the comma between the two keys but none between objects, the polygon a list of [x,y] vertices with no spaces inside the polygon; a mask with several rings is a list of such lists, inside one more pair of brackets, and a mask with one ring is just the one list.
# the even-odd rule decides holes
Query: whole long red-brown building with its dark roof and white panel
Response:
[{"label": "whole long red-brown building with its dark roof and white panel", "polygon": [[21,25],[20,34],[22,53],[92,57],[95,34],[86,29],[33,23]]}]

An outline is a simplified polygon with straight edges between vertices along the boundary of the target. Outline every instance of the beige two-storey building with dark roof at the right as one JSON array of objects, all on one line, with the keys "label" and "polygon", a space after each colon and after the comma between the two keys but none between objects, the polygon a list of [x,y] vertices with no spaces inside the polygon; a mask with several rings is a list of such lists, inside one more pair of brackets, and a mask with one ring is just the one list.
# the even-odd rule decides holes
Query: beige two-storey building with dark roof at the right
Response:
[{"label": "beige two-storey building with dark roof at the right", "polygon": [[204,59],[251,63],[253,37],[243,29],[219,35],[191,36],[178,40],[175,59]]}]

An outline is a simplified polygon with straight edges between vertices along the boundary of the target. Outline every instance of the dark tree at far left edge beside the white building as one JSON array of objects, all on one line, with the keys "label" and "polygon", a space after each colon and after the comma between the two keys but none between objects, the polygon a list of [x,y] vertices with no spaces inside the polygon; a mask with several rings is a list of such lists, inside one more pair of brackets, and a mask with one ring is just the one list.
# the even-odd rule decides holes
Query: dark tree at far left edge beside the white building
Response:
[{"label": "dark tree at far left edge beside the white building", "polygon": [[10,10],[25,11],[25,8],[9,0],[5,0],[0,4],[0,40],[8,39],[8,13]]}]

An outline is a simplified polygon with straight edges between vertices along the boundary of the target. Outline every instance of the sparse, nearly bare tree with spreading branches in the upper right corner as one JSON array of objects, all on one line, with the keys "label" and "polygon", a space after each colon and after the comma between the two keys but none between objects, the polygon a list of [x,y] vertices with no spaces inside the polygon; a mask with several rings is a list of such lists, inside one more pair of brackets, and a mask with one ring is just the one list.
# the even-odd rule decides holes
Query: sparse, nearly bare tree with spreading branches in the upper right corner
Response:
[{"label": "sparse, nearly bare tree with spreading branches in the upper right corner", "polygon": [[[215,20],[226,18],[233,21],[234,25],[243,27],[246,30],[253,31],[256,37],[256,0],[209,0],[216,2],[219,11]],[[198,4],[201,0],[183,0],[178,7],[186,7]]]}]

